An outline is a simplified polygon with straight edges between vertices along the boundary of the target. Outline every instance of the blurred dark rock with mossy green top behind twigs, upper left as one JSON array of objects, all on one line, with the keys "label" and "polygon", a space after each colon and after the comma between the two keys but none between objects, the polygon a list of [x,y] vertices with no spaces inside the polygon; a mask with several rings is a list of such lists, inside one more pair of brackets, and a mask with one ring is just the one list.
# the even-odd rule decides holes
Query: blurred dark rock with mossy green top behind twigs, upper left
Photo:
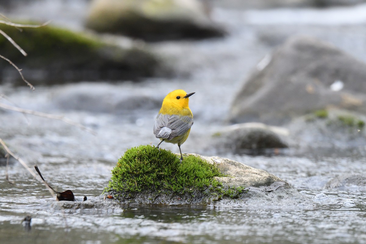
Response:
[{"label": "blurred dark rock with mossy green top behind twigs, upper left", "polygon": [[[0,25],[28,56],[8,40],[0,39],[1,55],[13,61],[29,81],[63,83],[72,80],[138,79],[153,76],[159,60],[141,47],[122,48],[107,44],[94,35],[75,33],[51,25],[22,28]],[[17,71],[3,61],[0,73]]]}]

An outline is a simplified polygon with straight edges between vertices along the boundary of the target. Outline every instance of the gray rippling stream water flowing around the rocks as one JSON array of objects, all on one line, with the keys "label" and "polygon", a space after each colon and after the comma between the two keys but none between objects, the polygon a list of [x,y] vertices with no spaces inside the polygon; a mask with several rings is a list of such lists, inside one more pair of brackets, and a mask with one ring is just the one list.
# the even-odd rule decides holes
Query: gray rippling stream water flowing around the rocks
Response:
[{"label": "gray rippling stream water flowing around the rocks", "polygon": [[[0,138],[30,167],[37,164],[58,191],[71,189],[77,200],[84,195],[92,199],[108,184],[111,169],[126,149],[158,143],[152,123],[161,101],[170,91],[184,89],[196,94],[190,99],[195,123],[182,151],[217,155],[209,146],[210,135],[225,125],[231,101],[266,53],[292,34],[307,34],[366,61],[365,20],[357,15],[365,9],[365,5],[316,11],[215,8],[213,19],[227,28],[227,37],[151,44],[174,64],[179,74],[175,78],[85,81],[37,86],[33,92],[26,86],[0,86],[16,105],[64,115],[97,135],[58,120],[0,110]],[[334,17],[337,14],[341,18]],[[320,16],[325,24],[314,20]],[[62,20],[59,23],[67,24]],[[176,145],[162,147],[179,152]],[[312,207],[238,209],[145,205],[67,209],[15,160],[7,170],[14,184],[8,183],[6,161],[0,159],[0,243],[366,243],[365,185],[325,188],[337,175],[365,172],[364,153],[346,157],[335,150],[334,157],[321,155],[317,150],[300,156],[221,154],[275,174],[314,201]],[[22,222],[27,215],[30,226]]]}]

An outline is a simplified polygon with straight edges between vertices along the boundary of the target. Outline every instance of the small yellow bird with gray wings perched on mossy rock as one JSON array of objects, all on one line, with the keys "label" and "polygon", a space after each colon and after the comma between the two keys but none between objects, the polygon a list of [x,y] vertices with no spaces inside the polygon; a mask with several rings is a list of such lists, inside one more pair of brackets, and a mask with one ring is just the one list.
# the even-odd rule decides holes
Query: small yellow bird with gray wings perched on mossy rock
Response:
[{"label": "small yellow bird with gray wings perched on mossy rock", "polygon": [[169,93],[163,100],[163,105],[154,122],[154,134],[156,138],[178,144],[180,151],[180,162],[183,160],[180,145],[188,138],[191,126],[193,125],[193,114],[188,107],[189,97],[193,93],[187,94],[183,90],[175,90]]}]

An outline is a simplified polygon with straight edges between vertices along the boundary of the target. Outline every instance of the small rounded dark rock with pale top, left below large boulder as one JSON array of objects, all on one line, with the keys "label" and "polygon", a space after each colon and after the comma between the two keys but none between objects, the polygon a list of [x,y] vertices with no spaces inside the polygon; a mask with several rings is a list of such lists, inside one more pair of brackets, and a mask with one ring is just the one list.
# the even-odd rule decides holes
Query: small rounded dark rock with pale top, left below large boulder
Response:
[{"label": "small rounded dark rock with pale top, left below large boulder", "polygon": [[288,147],[285,128],[262,123],[244,123],[228,126],[213,135],[213,147],[235,154],[258,154],[265,149]]}]

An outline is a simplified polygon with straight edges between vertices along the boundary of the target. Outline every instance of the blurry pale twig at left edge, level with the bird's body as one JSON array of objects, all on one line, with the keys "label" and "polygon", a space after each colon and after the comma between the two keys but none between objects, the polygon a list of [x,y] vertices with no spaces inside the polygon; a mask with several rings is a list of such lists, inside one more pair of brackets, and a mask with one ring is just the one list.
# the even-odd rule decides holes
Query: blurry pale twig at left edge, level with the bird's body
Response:
[{"label": "blurry pale twig at left edge, level with the bird's body", "polygon": [[16,111],[16,112],[21,112],[21,113],[27,113],[27,114],[30,114],[30,115],[35,115],[35,116],[39,116],[39,117],[43,117],[43,118],[47,118],[47,119],[61,120],[65,123],[67,123],[67,124],[74,125],[75,127],[78,127],[78,128],[80,128],[84,131],[90,132],[93,135],[97,134],[92,129],[87,128],[84,125],[79,124],[79,123],[77,123],[73,120],[67,119],[62,115],[51,115],[49,113],[42,113],[42,112],[30,110],[30,109],[22,109],[22,108],[18,108],[18,107],[14,107],[14,106],[11,106],[11,105],[4,104],[2,102],[0,102],[0,108],[9,109],[9,110],[13,110],[13,111]]}]

